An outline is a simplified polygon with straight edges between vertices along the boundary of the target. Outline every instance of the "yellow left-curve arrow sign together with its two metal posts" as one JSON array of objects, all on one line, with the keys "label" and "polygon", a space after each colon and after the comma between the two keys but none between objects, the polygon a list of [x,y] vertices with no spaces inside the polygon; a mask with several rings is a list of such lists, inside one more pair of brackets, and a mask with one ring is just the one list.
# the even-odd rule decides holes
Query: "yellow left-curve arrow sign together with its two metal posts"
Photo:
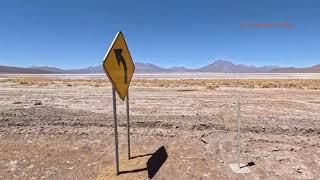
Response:
[{"label": "yellow left-curve arrow sign together with its two metal posts", "polygon": [[103,69],[112,83],[114,139],[116,154],[116,174],[119,175],[119,149],[117,130],[117,102],[116,92],[121,100],[127,98],[127,133],[128,133],[128,159],[130,154],[130,123],[129,123],[129,86],[135,70],[131,54],[122,32],[118,32],[103,61]]}]

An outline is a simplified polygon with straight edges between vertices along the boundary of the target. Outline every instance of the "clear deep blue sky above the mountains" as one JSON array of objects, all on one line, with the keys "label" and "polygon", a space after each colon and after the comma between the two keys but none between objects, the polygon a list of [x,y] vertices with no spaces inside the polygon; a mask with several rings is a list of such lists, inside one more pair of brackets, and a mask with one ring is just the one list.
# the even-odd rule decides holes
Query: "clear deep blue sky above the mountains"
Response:
[{"label": "clear deep blue sky above the mountains", "polygon": [[257,66],[320,63],[317,0],[7,0],[0,2],[0,64],[98,65],[120,30],[134,61],[164,67],[218,59]]}]

